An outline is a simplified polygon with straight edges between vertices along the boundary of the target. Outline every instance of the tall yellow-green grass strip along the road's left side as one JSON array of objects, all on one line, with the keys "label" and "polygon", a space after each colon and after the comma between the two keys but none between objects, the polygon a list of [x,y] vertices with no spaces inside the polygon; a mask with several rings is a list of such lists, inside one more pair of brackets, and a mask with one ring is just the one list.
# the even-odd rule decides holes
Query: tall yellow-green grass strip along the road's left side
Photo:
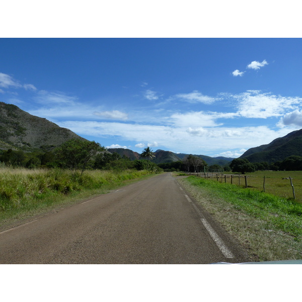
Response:
[{"label": "tall yellow-green grass strip along the road's left side", "polygon": [[145,170],[94,170],[72,177],[70,171],[59,169],[0,169],[0,222],[106,193],[143,177],[148,177]]}]

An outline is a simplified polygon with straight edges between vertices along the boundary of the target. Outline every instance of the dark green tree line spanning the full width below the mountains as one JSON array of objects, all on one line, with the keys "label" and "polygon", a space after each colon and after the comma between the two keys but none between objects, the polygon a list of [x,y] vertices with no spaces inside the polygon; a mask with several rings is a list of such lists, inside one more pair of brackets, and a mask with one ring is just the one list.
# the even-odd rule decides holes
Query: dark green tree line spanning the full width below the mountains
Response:
[{"label": "dark green tree line spanning the full width below the mountains", "polygon": [[302,157],[290,156],[283,161],[272,163],[251,163],[247,159],[234,159],[230,165],[208,166],[199,157],[189,155],[182,161],[155,164],[153,150],[147,147],[141,153],[142,160],[131,161],[118,153],[108,153],[106,148],[95,141],[70,139],[57,148],[49,150],[51,146],[41,146],[40,150],[24,153],[22,150],[0,150],[0,166],[25,168],[63,168],[70,169],[72,174],[79,171],[81,175],[86,169],[102,170],[148,170],[148,171],[184,171],[200,173],[204,171],[233,171],[241,174],[259,170],[302,170]]}]

